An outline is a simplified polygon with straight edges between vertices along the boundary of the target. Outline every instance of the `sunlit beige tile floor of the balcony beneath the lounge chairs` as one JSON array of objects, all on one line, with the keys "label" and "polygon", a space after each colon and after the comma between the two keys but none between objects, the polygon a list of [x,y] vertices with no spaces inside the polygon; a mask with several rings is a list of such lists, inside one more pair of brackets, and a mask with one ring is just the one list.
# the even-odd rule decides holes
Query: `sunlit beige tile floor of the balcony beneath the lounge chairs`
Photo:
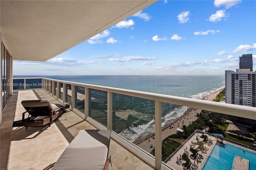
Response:
[{"label": "sunlit beige tile floor of the balcony beneath the lounge chairs", "polygon": [[[0,170],[42,170],[56,162],[79,130],[95,129],[72,111],[64,113],[47,128],[45,126],[12,128],[12,122],[20,120],[25,111],[21,101],[33,99],[48,99],[51,103],[59,103],[42,89],[13,93],[2,114]],[[109,165],[109,170],[153,169],[114,140],[110,142],[109,154],[112,155],[112,167]]]}]

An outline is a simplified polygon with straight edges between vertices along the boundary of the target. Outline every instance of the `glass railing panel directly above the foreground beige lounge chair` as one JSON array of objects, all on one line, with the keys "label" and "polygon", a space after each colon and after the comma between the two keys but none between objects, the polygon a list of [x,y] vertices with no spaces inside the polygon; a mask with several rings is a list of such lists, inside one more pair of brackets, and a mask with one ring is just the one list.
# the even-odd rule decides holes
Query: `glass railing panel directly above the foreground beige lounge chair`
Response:
[{"label": "glass railing panel directly above the foreground beige lounge chair", "polygon": [[107,91],[89,89],[89,117],[107,127]]}]

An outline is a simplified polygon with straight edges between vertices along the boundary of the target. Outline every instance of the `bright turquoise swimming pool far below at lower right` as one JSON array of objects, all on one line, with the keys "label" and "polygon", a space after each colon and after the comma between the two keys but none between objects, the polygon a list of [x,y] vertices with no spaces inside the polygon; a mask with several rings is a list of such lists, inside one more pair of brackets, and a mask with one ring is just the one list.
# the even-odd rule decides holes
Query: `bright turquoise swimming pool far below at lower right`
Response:
[{"label": "bright turquoise swimming pool far below at lower right", "polygon": [[235,155],[248,159],[249,170],[256,170],[256,153],[232,144],[226,144],[226,147],[216,144],[202,170],[231,170]]}]

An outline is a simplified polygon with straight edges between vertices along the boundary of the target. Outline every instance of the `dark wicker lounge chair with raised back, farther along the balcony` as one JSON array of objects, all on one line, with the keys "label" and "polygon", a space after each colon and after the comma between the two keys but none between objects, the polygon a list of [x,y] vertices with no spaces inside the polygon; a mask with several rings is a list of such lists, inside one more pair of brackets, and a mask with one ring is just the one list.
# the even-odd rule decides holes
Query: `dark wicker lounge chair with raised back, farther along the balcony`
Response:
[{"label": "dark wicker lounge chair with raised back, farther along the balcony", "polygon": [[[21,104],[26,109],[22,113],[22,120],[14,121],[12,127],[33,127],[52,124],[55,119],[69,108],[69,103],[51,104],[48,100],[28,100],[22,101]],[[28,117],[25,118],[25,113]]]}]

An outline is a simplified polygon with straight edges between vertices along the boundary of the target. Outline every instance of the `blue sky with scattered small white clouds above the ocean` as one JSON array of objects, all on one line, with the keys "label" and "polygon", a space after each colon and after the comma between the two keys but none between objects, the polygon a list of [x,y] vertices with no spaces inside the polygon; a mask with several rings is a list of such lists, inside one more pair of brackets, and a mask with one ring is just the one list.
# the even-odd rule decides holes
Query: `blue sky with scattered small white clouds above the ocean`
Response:
[{"label": "blue sky with scattered small white clouds above the ocean", "polygon": [[160,0],[46,62],[13,75],[225,75],[253,55],[255,0]]}]

